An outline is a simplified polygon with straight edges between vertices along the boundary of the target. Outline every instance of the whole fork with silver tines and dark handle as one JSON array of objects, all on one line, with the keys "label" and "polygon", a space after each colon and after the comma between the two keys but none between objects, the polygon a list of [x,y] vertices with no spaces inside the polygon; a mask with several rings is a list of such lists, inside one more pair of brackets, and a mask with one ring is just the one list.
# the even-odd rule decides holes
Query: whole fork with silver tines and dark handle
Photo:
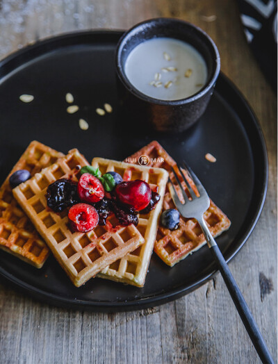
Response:
[{"label": "whole fork with silver tines and dark handle", "polygon": [[193,217],[199,223],[199,226],[201,227],[204,233],[204,237],[206,238],[206,242],[208,243],[208,247],[210,248],[211,253],[213,254],[213,258],[215,259],[215,262],[218,265],[218,269],[222,274],[222,277],[224,279],[224,282],[226,283],[231,298],[234,301],[234,304],[236,306],[236,309],[238,310],[240,318],[243,321],[243,324],[245,325],[245,329],[247,330],[250,339],[252,340],[253,345],[257,353],[259,354],[259,357],[261,358],[262,363],[272,364],[274,363],[274,361],[270,355],[268,347],[265,344],[265,341],[263,340],[263,336],[261,336],[259,327],[257,326],[254,317],[252,316],[250,308],[247,306],[247,303],[242,293],[240,292],[240,289],[238,288],[238,285],[234,277],[232,276],[231,271],[229,270],[229,267],[226,261],[224,260],[224,257],[222,256],[222,253],[217,243],[213,239],[213,235],[211,235],[211,232],[209,231],[208,226],[206,226],[206,222],[204,221],[204,212],[208,209],[210,205],[210,199],[208,197],[208,194],[206,193],[206,190],[204,189],[202,183],[199,181],[199,179],[197,179],[197,176],[193,173],[192,169],[190,169],[190,167],[188,167],[188,165],[186,165],[184,161],[183,164],[189,176],[191,177],[191,179],[193,179],[193,182],[195,183],[195,186],[199,192],[199,196],[195,195],[195,192],[188,183],[186,176],[183,174],[181,168],[178,166],[179,172],[181,173],[183,181],[186,183],[186,186],[190,193],[191,199],[188,199],[188,195],[186,195],[186,192],[183,190],[181,182],[179,181],[179,177],[177,176],[177,173],[174,171],[174,168],[172,167],[174,177],[177,180],[177,183],[183,195],[183,199],[185,201],[184,204],[183,202],[180,201],[177,191],[174,188],[174,184],[169,179],[171,183],[170,193],[172,195],[174,204],[176,205],[177,209],[179,210],[179,213],[183,217],[186,218]]}]

